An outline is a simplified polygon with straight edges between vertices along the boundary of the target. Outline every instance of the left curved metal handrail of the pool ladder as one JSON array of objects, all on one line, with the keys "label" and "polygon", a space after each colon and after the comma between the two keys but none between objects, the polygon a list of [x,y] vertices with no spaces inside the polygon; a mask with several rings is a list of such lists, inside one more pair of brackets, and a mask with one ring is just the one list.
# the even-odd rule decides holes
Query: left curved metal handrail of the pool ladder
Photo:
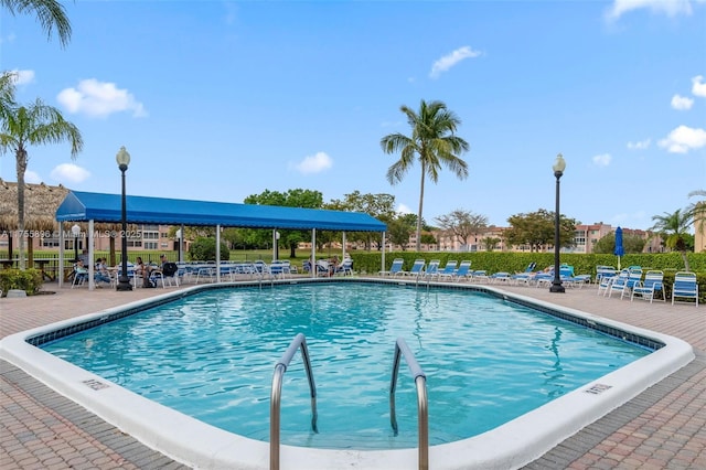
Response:
[{"label": "left curved metal handrail of the pool ladder", "polygon": [[279,412],[282,395],[282,377],[287,367],[295,356],[297,350],[301,346],[301,357],[304,362],[307,378],[309,378],[309,391],[311,393],[311,429],[319,432],[317,428],[317,386],[313,383],[313,373],[311,372],[311,361],[309,360],[309,350],[307,349],[307,339],[299,333],[282,354],[279,362],[275,365],[275,374],[272,375],[272,391],[269,402],[269,468],[270,470],[279,469]]}]

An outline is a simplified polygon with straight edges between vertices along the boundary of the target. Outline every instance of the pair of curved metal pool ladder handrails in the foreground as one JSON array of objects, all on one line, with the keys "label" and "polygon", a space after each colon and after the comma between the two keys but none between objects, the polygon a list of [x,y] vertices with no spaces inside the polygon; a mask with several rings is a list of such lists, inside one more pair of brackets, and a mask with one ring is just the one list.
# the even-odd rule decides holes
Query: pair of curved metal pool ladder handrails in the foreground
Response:
[{"label": "pair of curved metal pool ladder handrails in the foreground", "polygon": [[[269,421],[269,468],[270,470],[279,470],[279,438],[280,438],[280,407],[282,394],[282,378],[287,367],[295,356],[297,350],[301,348],[301,356],[309,380],[309,391],[311,394],[311,429],[319,432],[317,428],[317,386],[313,383],[313,373],[311,372],[311,360],[309,359],[309,350],[307,349],[307,339],[299,333],[282,354],[279,362],[275,365],[275,374],[272,376],[272,389],[270,393],[270,421]],[[404,339],[398,338],[395,342],[395,359],[393,361],[393,374],[389,385],[389,421],[395,436],[397,436],[397,417],[395,414],[395,389],[397,388],[397,376],[399,375],[399,363],[404,355],[409,372],[415,380],[417,386],[417,427],[419,434],[419,470],[429,469],[429,414],[427,399],[427,376],[419,366],[417,359],[407,345]]]}]

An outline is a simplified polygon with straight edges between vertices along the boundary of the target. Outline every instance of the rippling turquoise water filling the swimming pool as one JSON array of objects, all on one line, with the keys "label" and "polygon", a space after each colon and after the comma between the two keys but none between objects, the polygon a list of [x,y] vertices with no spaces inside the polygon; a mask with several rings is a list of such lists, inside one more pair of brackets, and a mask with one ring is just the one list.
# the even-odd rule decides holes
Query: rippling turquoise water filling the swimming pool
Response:
[{"label": "rippling turquoise water filling the swimming pool", "polygon": [[428,381],[429,442],[477,436],[612,372],[650,350],[490,295],[352,284],[216,289],[42,348],[213,426],[269,439],[275,363],[307,337],[318,392],[297,354],[282,386],[282,444],[394,449],[417,445],[406,365],[389,425],[395,340]]}]

